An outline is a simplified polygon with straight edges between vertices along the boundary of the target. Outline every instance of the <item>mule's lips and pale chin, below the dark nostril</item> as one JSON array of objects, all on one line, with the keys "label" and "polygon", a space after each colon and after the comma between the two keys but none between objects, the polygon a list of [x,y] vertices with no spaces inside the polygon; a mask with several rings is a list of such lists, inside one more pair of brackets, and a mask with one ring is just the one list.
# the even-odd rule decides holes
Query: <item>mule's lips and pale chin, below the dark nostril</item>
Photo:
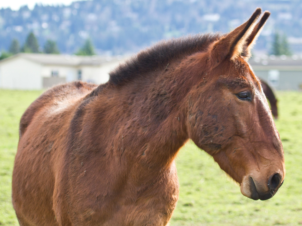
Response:
[{"label": "mule's lips and pale chin, below the dark nostril", "polygon": [[[244,180],[242,181],[242,183],[240,184],[240,190],[241,193],[250,198],[250,199],[254,199],[254,200],[266,200],[266,199],[270,199],[271,197],[274,196],[274,194],[276,193],[276,191],[278,189],[275,190],[271,190],[268,188],[268,186],[263,186],[265,187],[265,189],[262,186],[259,186],[259,184],[257,183],[258,186],[256,186],[255,181],[253,180],[253,178],[251,176],[245,177]],[[258,187],[258,189],[257,189]]]}]

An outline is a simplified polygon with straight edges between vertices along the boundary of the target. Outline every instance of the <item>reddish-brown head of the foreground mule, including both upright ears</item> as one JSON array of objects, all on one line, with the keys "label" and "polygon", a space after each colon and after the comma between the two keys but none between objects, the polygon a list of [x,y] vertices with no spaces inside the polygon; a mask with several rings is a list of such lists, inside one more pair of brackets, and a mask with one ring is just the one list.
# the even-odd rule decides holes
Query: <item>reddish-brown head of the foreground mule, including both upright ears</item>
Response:
[{"label": "reddish-brown head of the foreground mule, including both upright ears", "polygon": [[285,176],[284,152],[259,79],[246,62],[269,16],[261,10],[206,53],[207,62],[188,98],[189,137],[240,184],[243,195],[269,199]]}]

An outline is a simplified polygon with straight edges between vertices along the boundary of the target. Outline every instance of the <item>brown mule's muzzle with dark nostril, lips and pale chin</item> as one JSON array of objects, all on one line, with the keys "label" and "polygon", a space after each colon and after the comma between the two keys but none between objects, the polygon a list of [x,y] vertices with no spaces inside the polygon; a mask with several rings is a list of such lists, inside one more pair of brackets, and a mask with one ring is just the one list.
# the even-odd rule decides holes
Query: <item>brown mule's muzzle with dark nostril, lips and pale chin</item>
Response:
[{"label": "brown mule's muzzle with dark nostril, lips and pale chin", "polygon": [[241,188],[241,192],[243,195],[254,200],[266,200],[273,197],[282,184],[282,177],[279,173],[273,174],[268,179],[267,187],[261,186],[249,176],[248,181],[246,181],[243,188]]}]

